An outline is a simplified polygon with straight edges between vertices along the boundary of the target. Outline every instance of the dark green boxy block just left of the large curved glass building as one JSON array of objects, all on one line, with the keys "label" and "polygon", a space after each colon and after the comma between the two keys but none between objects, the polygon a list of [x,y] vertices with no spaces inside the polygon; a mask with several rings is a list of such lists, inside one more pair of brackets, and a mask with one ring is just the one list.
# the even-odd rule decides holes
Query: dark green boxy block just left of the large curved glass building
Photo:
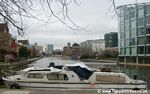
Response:
[{"label": "dark green boxy block just left of the large curved glass building", "polygon": [[105,48],[118,47],[118,32],[110,32],[104,35]]}]

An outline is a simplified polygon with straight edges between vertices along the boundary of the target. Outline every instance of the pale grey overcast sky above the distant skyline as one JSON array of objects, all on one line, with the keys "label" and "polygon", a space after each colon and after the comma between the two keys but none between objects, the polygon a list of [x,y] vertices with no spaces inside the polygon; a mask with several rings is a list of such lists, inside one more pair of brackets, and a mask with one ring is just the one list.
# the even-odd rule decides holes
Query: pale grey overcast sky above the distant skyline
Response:
[{"label": "pale grey overcast sky above the distant skyline", "polygon": [[[34,20],[27,20],[26,38],[38,45],[54,44],[62,49],[68,42],[80,43],[90,39],[103,39],[108,32],[118,32],[117,16],[114,15],[111,0],[78,0],[80,6],[69,6],[70,18],[87,31],[72,31],[60,22],[43,25]],[[136,0],[115,0],[116,5],[135,3]],[[150,0],[138,0],[138,3]]]}]

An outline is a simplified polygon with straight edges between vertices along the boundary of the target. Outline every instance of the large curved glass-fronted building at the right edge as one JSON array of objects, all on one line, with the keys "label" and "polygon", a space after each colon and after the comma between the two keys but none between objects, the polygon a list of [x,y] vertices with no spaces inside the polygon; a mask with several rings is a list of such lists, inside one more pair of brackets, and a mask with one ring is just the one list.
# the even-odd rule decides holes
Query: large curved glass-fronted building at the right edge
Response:
[{"label": "large curved glass-fronted building at the right edge", "polygon": [[122,5],[119,16],[119,60],[150,63],[150,3]]}]

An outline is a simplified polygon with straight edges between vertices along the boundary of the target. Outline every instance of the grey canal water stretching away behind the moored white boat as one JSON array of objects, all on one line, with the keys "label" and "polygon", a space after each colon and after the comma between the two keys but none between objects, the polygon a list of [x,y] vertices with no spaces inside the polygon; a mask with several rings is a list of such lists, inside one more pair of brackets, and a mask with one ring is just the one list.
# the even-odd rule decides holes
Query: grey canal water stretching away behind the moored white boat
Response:
[{"label": "grey canal water stretching away behind the moored white boat", "polygon": [[[51,62],[54,62],[55,65],[64,65],[64,64],[77,63],[81,61],[64,59],[61,57],[51,57],[51,58],[43,58],[38,61],[35,61],[32,64],[29,64],[28,67],[30,66],[48,67],[49,63]],[[115,63],[105,63],[105,62],[83,62],[83,63],[93,68],[100,68],[104,66],[111,67],[112,70],[118,72],[124,72],[131,78],[133,78],[133,75],[137,75],[138,79],[145,80],[148,83],[148,88],[150,89],[150,67],[121,66]]]}]

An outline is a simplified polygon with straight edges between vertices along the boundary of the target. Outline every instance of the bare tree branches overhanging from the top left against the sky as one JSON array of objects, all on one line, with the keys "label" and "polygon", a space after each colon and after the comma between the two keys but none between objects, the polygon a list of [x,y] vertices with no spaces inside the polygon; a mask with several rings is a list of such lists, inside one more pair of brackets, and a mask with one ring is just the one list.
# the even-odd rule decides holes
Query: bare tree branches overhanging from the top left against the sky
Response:
[{"label": "bare tree branches overhanging from the top left against the sky", "polygon": [[[57,8],[58,12],[55,12],[55,9],[53,9],[53,4],[57,4],[55,9]],[[24,33],[24,17],[34,18],[44,23],[48,23],[51,20],[51,17],[54,17],[72,30],[85,30],[70,19],[68,15],[68,6],[70,4],[79,5],[76,0],[0,0],[0,15],[2,17],[1,19],[4,19],[5,22],[8,22],[15,27],[18,30],[18,34],[21,36]],[[33,12],[37,7],[41,7],[41,10],[39,11],[49,13],[49,19],[47,21],[34,15]],[[46,9],[48,11],[45,11]],[[66,23],[65,20],[71,24]]]}]

